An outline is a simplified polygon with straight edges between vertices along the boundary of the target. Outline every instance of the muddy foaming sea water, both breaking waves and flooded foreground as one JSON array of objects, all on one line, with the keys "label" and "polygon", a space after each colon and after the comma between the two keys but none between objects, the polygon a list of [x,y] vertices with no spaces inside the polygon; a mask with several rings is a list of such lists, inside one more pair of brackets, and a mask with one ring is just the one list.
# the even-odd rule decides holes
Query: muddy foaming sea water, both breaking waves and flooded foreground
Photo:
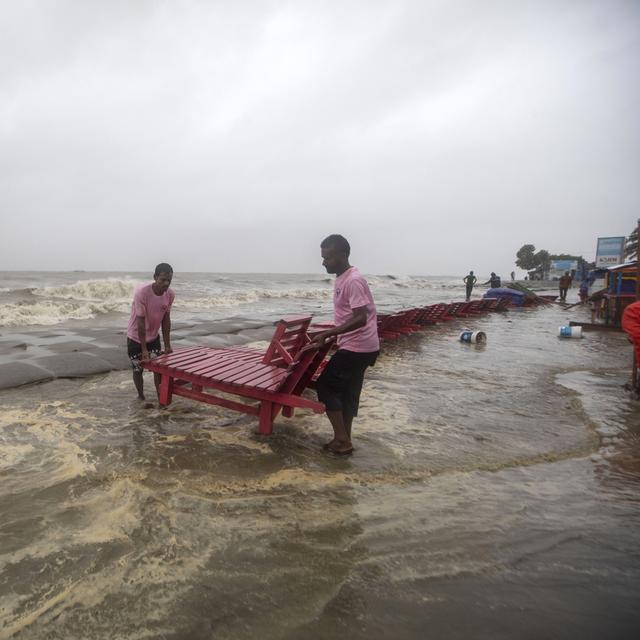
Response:
[{"label": "muddy foaming sea water, both breaking waves and flooded foreground", "polygon": [[[5,273],[0,337],[123,330],[149,280]],[[464,295],[457,277],[369,282],[382,311]],[[324,274],[172,286],[178,334],[331,317]],[[258,437],[220,407],[145,409],[128,371],[0,392],[0,638],[635,638],[640,407],[623,334],[558,340],[586,315],[386,343],[348,459],[322,452],[323,416]]]}]

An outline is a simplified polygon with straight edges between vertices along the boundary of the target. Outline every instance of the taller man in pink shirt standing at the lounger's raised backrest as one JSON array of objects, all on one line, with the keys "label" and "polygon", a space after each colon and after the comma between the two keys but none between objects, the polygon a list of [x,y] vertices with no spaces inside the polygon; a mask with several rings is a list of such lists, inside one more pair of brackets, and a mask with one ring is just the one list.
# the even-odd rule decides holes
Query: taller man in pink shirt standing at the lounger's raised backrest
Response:
[{"label": "taller man in pink shirt standing at the lounger's raised backrest", "polygon": [[349,264],[351,247],[341,235],[320,244],[322,264],[335,273],[333,309],[335,327],[319,333],[313,344],[337,336],[338,350],[318,378],[318,399],[324,403],[333,427],[333,440],[324,449],[335,455],[353,453],[351,423],[358,415],[360,392],[367,367],[380,353],[376,307],[367,281]]}]

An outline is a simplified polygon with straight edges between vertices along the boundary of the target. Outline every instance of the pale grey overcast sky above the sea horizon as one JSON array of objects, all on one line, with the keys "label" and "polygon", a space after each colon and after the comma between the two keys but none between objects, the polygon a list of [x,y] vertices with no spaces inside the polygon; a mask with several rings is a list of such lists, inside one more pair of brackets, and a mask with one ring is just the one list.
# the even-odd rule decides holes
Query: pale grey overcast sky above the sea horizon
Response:
[{"label": "pale grey overcast sky above the sea horizon", "polygon": [[640,216],[640,2],[0,0],[0,269],[507,275]]}]

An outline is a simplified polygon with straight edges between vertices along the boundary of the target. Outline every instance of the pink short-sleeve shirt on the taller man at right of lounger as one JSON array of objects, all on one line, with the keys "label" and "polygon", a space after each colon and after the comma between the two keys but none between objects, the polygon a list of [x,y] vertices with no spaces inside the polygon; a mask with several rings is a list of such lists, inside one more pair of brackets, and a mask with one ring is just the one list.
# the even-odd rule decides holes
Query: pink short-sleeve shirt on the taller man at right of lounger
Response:
[{"label": "pink short-sleeve shirt on the taller man at right of lounger", "polygon": [[358,353],[380,350],[376,305],[369,285],[356,267],[350,267],[340,274],[333,285],[333,309],[336,326],[343,324],[353,315],[353,309],[367,308],[367,322],[364,327],[342,333],[338,336],[338,348]]}]

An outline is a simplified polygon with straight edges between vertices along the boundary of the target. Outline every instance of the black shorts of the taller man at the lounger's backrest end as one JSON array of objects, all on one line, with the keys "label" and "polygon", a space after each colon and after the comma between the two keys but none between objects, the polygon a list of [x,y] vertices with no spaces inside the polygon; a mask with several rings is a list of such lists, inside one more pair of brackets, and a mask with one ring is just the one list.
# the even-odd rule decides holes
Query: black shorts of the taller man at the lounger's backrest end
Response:
[{"label": "black shorts of the taller man at the lounger's backrest end", "polygon": [[333,354],[316,383],[318,400],[327,411],[342,411],[351,417],[358,415],[364,372],[375,364],[379,353],[339,349]]}]

